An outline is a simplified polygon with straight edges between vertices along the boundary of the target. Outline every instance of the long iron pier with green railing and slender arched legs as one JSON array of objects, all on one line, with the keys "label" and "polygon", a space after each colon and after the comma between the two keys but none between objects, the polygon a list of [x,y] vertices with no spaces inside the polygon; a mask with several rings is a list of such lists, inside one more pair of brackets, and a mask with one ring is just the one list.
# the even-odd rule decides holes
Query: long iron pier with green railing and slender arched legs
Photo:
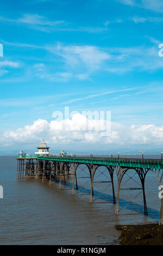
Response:
[{"label": "long iron pier with green railing and slender arched legs", "polygon": [[[98,183],[111,184],[111,192],[113,204],[115,204],[115,214],[118,215],[119,200],[121,190],[138,190],[142,191],[144,214],[148,215],[146,194],[145,194],[145,178],[148,172],[153,172],[158,179],[158,185],[161,185],[163,176],[163,160],[162,159],[129,159],[115,157],[78,157],[78,156],[19,156],[17,159],[17,178],[36,178],[49,179],[51,185],[52,179],[58,181],[59,189],[61,189],[62,182],[66,185],[67,180],[72,179],[72,188],[65,188],[74,191],[78,190],[77,173],[80,172],[81,167],[85,166],[89,170],[87,176],[80,176],[80,179],[90,180],[90,199],[93,199],[93,187]],[[108,176],[103,175],[99,167],[105,167],[108,170]],[[122,188],[121,183],[124,175],[127,175],[128,170],[135,170],[140,179],[140,187],[126,187]],[[100,175],[95,176],[96,172]],[[117,176],[117,196],[115,197],[113,174]],[[99,178],[99,176],[103,176]],[[132,178],[132,177],[130,177]],[[101,191],[103,193],[103,191]],[[160,206],[159,225],[163,224],[163,202]],[[99,202],[101,203],[101,202]]]}]

